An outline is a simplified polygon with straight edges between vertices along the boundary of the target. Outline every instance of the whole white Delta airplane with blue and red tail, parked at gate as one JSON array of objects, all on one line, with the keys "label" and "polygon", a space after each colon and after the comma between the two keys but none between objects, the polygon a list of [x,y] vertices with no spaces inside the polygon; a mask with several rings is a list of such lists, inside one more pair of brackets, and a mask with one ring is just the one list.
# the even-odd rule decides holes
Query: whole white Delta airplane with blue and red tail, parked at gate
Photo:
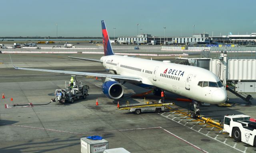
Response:
[{"label": "whole white Delta airplane with blue and red tail, parked at gate", "polygon": [[[189,65],[179,65],[168,61],[154,61],[152,59],[141,59],[126,55],[115,55],[104,20],[101,21],[101,24],[104,56],[100,60],[79,57],[69,58],[100,62],[109,72],[108,74],[29,69],[15,67],[14,65],[13,67],[19,70],[100,77],[103,82],[102,92],[113,100],[122,98],[124,95],[122,84],[125,82],[130,82],[148,89],[158,88],[192,99],[195,107],[193,115],[199,114],[198,102],[209,104],[226,102],[227,93],[222,82],[214,73],[206,69]],[[123,83],[121,84],[120,81],[123,81]]]}]

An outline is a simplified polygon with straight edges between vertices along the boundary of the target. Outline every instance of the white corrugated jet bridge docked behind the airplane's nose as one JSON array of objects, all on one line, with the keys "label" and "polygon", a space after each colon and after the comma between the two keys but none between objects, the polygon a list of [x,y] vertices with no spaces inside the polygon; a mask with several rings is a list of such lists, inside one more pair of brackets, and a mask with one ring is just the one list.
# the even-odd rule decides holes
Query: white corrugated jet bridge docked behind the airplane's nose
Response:
[{"label": "white corrugated jet bridge docked behind the airplane's nose", "polygon": [[[184,62],[181,62],[183,60]],[[256,59],[242,57],[228,57],[226,51],[220,54],[218,59],[211,58],[177,58],[179,63],[201,67],[214,73],[222,80],[226,89],[242,98],[248,104],[256,93]],[[174,63],[176,63],[174,61]]]}]

